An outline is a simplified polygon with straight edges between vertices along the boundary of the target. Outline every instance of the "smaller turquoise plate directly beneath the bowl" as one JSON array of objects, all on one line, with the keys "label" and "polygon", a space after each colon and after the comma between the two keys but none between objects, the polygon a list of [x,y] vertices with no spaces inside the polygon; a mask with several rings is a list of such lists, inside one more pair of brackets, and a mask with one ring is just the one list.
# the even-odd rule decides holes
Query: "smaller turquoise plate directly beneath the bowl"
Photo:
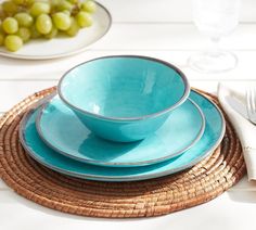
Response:
[{"label": "smaller turquoise plate directly beneath the bowl", "polygon": [[36,125],[41,139],[68,157],[102,166],[131,167],[164,162],[181,154],[200,140],[205,120],[200,107],[188,100],[144,140],[112,142],[94,136],[55,95],[40,108]]}]

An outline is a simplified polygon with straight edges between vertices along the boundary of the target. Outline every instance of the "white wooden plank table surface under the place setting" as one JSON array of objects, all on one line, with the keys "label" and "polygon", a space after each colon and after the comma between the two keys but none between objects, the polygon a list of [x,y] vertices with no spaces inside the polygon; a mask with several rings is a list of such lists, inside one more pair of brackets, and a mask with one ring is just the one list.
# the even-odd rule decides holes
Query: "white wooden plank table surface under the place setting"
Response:
[{"label": "white wooden plank table surface under the place setting", "polygon": [[[50,61],[22,61],[0,58],[0,114],[11,108],[23,98],[35,91],[56,85],[62,74],[69,67],[92,58],[111,54],[139,54],[166,60],[179,66],[188,76],[192,86],[216,92],[219,81],[227,84],[256,82],[256,14],[252,0],[245,1],[242,23],[221,46],[239,56],[239,66],[223,74],[199,74],[187,65],[188,58],[207,47],[207,39],[201,36],[187,13],[165,10],[167,0],[162,0],[159,11],[155,12],[152,0],[130,0],[127,11],[139,4],[135,16],[120,11],[127,1],[105,0],[103,3],[113,12],[113,27],[99,42],[88,51],[75,56]],[[118,2],[118,3],[117,3]],[[174,0],[169,1],[169,4]],[[178,2],[178,1],[176,1]],[[180,1],[185,3],[184,1]],[[254,4],[254,10],[256,4]],[[155,16],[153,15],[155,13]],[[139,15],[139,16],[138,16]],[[244,177],[236,186],[206,204],[148,219],[95,219],[62,214],[27,201],[0,180],[0,229],[255,229],[256,182]],[[12,219],[11,219],[12,218]]]}]

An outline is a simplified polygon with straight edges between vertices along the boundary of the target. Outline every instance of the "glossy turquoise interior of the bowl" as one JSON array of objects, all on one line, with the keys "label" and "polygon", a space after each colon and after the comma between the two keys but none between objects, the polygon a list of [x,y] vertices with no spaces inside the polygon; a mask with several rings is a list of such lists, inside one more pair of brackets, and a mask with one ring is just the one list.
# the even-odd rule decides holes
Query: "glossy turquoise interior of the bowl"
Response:
[{"label": "glossy turquoise interior of the bowl", "polygon": [[141,117],[171,107],[185,92],[184,79],[162,62],[105,58],[69,71],[60,90],[72,105],[106,117]]}]

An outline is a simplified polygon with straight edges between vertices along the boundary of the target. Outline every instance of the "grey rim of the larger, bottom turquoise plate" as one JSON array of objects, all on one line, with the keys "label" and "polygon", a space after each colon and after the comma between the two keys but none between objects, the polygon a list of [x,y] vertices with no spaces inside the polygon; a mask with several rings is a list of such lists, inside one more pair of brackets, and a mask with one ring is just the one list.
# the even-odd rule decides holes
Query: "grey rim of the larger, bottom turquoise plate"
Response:
[{"label": "grey rim of the larger, bottom turquoise plate", "polygon": [[[209,154],[213,153],[213,151],[216,149],[216,146],[218,146],[220,144],[221,140],[223,139],[225,132],[226,132],[226,120],[225,120],[223,114],[222,114],[221,110],[218,107],[218,105],[214,101],[209,100],[207,97],[203,95],[202,93],[196,92],[193,89],[191,91],[195,92],[196,94],[202,95],[205,100],[209,101],[215,106],[215,108],[218,111],[218,113],[220,115],[221,123],[222,123],[222,128],[221,128],[220,136],[217,139],[216,143],[208,151],[206,151],[205,154],[201,155],[200,157],[196,157],[194,161],[190,162],[190,164],[187,164],[185,166],[180,166],[180,167],[176,168],[175,170],[169,169],[169,170],[165,170],[165,171],[162,171],[162,173],[157,173],[157,174],[153,174],[153,175],[144,175],[144,176],[99,176],[99,175],[92,175],[92,174],[88,175],[88,174],[73,173],[71,170],[64,170],[60,167],[51,166],[51,165],[42,162],[40,159],[40,157],[38,157],[37,154],[35,154],[34,151],[31,151],[30,148],[27,146],[27,144],[26,144],[26,141],[25,141],[25,125],[26,125],[28,118],[30,117],[30,115],[36,111],[36,107],[39,106],[38,104],[42,104],[47,100],[47,98],[43,98],[43,99],[39,100],[38,102],[36,102],[34,104],[35,106],[31,106],[31,108],[24,114],[24,116],[23,116],[23,118],[20,123],[18,138],[20,138],[20,141],[21,141],[23,148],[25,149],[25,151],[35,161],[37,161],[38,163],[42,164],[43,166],[46,166],[46,167],[48,167],[52,170],[64,174],[66,176],[73,176],[73,177],[76,177],[76,178],[88,179],[88,180],[110,181],[110,182],[114,182],[114,181],[115,182],[140,181],[140,180],[154,179],[154,178],[168,176],[168,175],[181,171],[185,168],[190,168],[193,165],[201,162],[202,159],[206,158]],[[65,157],[65,156],[63,156],[63,157]],[[74,161],[74,159],[72,159],[72,161]],[[82,164],[82,163],[80,163],[80,164]],[[97,166],[97,167],[101,167],[101,166]]]}]

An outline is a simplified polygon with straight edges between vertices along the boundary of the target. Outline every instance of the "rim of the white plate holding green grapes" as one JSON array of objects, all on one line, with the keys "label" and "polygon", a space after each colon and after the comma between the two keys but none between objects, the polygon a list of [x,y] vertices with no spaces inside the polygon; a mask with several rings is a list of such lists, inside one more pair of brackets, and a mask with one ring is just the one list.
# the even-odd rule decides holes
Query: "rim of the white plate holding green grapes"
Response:
[{"label": "rim of the white plate holding green grapes", "polygon": [[[111,29],[112,24],[113,24],[113,17],[111,12],[100,2],[94,1],[100,8],[102,8],[104,10],[104,12],[106,13],[110,23],[106,27],[106,30],[94,41],[90,42],[88,46],[82,47],[81,49],[76,49],[74,51],[71,52],[65,52],[65,53],[61,53],[61,54],[51,54],[51,55],[26,55],[26,54],[16,54],[15,52],[3,52],[0,50],[0,56],[4,56],[4,58],[9,58],[9,59],[15,59],[15,60],[30,60],[30,61],[43,61],[43,60],[54,60],[54,59],[62,59],[62,58],[67,58],[67,56],[72,56],[72,55],[76,55],[78,53],[81,53],[86,50],[88,50],[88,48],[98,42],[100,39],[102,39]],[[78,35],[79,36],[79,35]]]}]

